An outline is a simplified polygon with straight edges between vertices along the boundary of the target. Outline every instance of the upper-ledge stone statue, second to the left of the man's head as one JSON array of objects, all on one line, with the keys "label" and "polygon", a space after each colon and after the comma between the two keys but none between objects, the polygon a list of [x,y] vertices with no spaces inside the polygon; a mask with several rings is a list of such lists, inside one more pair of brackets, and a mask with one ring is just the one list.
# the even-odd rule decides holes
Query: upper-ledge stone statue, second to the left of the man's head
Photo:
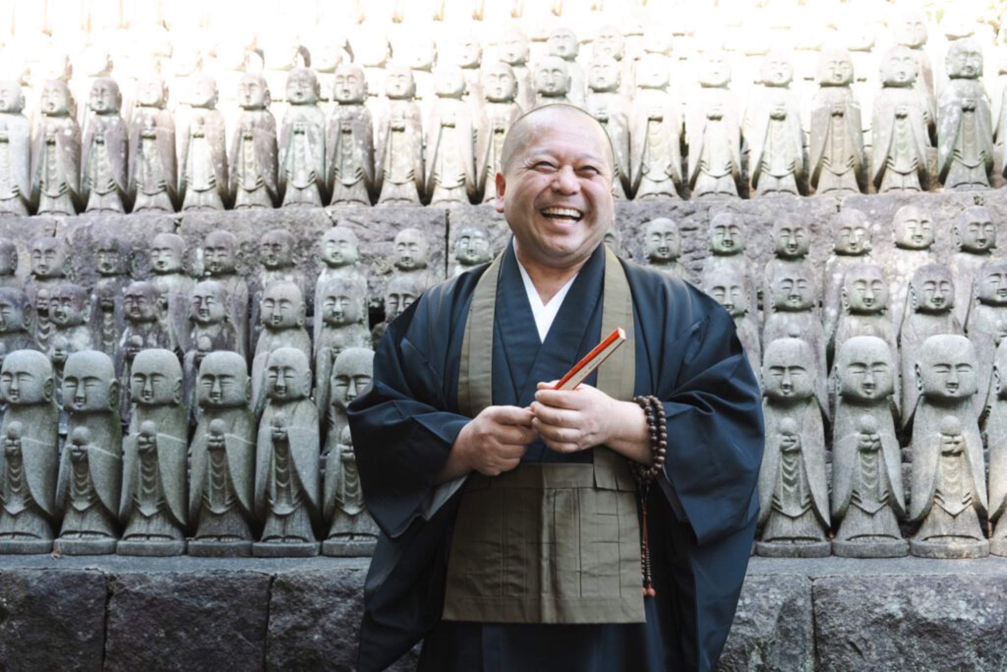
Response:
[{"label": "upper-ledge stone statue, second to the left of the man's head", "polygon": [[462,101],[465,77],[460,68],[441,68],[434,76],[436,100],[427,123],[424,189],[431,206],[467,206],[475,195],[470,106]]}]

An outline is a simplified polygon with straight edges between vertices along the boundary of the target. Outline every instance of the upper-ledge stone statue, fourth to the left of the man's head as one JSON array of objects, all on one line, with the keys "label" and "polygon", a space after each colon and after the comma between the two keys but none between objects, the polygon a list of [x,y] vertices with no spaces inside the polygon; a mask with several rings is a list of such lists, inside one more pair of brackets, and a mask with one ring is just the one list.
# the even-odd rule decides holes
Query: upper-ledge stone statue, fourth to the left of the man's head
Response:
[{"label": "upper-ledge stone statue, fourth to the left of the man's head", "polygon": [[325,156],[333,206],[370,206],[376,191],[374,122],[364,105],[368,83],[353,63],[335,69]]}]

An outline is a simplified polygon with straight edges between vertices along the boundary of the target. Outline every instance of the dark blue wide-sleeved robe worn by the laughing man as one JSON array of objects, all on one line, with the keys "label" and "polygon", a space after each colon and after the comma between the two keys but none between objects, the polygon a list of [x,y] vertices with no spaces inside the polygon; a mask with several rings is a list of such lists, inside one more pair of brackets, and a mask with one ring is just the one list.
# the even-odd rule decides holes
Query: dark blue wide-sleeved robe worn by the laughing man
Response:
[{"label": "dark blue wide-sleeved robe worn by the laughing man", "polygon": [[[545,343],[511,246],[496,293],[493,403],[527,406],[597,345],[604,255],[570,288]],[[364,495],[382,535],[365,586],[359,669],[382,669],[424,639],[421,669],[711,669],[727,639],[758,510],[763,425],[755,377],[730,315],[666,274],[623,262],[633,295],[635,394],[668,416],[668,458],[651,491],[657,597],[646,623],[511,625],[441,622],[460,491],[429,512],[436,478],[469,418],[458,413],[461,341],[485,266],[428,289],[396,319],[373,386],[348,409]],[[588,379],[594,384],[595,376]],[[589,461],[541,441],[526,461]]]}]

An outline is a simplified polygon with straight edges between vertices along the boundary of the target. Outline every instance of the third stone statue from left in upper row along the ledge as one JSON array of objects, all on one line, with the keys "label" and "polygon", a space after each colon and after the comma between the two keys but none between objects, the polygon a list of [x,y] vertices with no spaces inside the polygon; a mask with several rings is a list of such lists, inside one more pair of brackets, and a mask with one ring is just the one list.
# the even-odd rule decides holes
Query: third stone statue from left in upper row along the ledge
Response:
[{"label": "third stone statue from left in upper row along the ledge", "polygon": [[99,78],[91,86],[81,170],[81,200],[89,213],[124,213],[129,206],[129,132],[119,114],[122,101],[119,85],[111,78]]}]

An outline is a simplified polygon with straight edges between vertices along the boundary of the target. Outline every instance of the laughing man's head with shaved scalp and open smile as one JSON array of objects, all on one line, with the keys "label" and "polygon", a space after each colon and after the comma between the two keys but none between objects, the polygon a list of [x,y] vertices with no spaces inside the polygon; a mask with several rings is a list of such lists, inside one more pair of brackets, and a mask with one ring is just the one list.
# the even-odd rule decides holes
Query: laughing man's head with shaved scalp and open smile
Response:
[{"label": "laughing man's head with shaved scalp and open smile", "polygon": [[576,108],[539,108],[511,127],[502,156],[495,208],[522,262],[583,263],[615,219],[614,159],[604,129]]}]

